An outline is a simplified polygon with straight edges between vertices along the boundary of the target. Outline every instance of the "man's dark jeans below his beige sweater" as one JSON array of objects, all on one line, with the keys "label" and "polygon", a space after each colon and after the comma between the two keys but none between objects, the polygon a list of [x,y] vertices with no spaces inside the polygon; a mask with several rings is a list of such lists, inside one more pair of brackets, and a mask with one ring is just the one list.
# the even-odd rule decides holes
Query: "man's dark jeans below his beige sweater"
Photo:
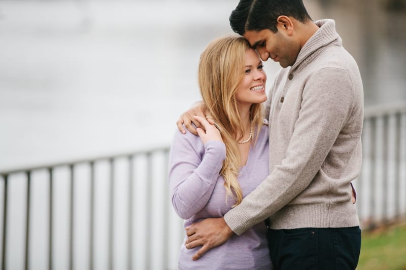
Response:
[{"label": "man's dark jeans below his beige sweater", "polygon": [[361,229],[268,229],[270,258],[278,270],[355,269],[361,249]]}]

